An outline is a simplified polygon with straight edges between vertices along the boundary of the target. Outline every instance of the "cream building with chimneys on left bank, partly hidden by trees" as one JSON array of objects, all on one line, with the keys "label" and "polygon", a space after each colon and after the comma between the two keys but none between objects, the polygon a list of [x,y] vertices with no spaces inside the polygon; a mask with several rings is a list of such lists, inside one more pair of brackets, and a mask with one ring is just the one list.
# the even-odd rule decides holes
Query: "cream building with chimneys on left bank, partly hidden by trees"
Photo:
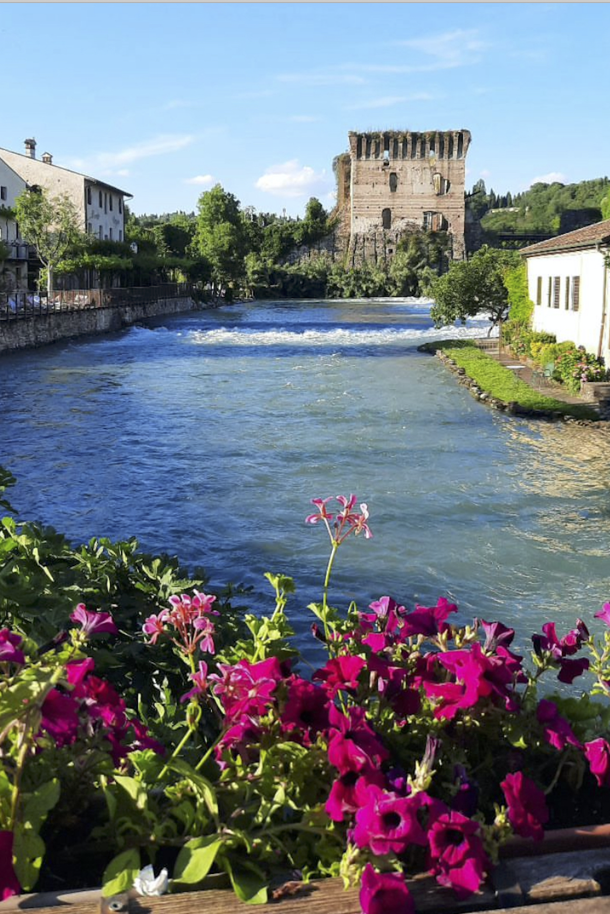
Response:
[{"label": "cream building with chimneys on left bank, partly hidden by trees", "polygon": [[[27,187],[44,187],[51,197],[70,197],[76,208],[80,228],[96,239],[123,241],[125,238],[125,200],[132,195],[89,175],[53,165],[53,157],[36,157],[36,141],[26,140],[25,153],[0,148],[0,240],[8,242],[11,255],[25,254],[25,260],[10,256],[5,271],[16,271],[16,288],[27,282],[27,239],[21,239],[14,219],[3,218],[2,207],[14,206],[15,197]],[[17,262],[18,261],[18,262]],[[24,267],[25,264],[25,267]],[[25,276],[23,275],[25,269]]]}]

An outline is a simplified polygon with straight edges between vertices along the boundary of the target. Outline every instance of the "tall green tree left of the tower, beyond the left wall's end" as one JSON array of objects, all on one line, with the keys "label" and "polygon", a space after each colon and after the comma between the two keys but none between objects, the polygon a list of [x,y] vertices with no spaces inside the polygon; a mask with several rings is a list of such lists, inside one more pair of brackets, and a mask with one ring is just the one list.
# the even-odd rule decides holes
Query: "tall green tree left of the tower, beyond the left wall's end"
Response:
[{"label": "tall green tree left of the tower, beyond the left wall's end", "polygon": [[198,199],[193,244],[210,265],[212,282],[229,291],[245,273],[247,236],[240,201],[217,184]]}]

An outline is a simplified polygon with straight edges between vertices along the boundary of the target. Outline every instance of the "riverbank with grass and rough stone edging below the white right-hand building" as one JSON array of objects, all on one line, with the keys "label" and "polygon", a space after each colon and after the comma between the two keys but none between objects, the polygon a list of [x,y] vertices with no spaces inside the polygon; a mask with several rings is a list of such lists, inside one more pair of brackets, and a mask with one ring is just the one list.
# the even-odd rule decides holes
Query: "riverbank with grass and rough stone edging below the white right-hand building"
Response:
[{"label": "riverbank with grass and rough stone edging below the white right-hand building", "polygon": [[597,424],[599,408],[557,384],[544,392],[531,367],[498,346],[483,348],[477,340],[441,340],[420,346],[441,359],[479,402],[513,416],[547,421]]}]

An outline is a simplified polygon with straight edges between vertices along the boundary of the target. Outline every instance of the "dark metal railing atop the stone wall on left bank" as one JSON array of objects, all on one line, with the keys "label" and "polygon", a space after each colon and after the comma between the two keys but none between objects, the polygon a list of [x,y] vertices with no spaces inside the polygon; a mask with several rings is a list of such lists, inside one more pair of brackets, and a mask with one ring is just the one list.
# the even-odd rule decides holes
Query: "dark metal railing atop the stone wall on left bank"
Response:
[{"label": "dark metal railing atop the stone wall on left bank", "polygon": [[58,290],[51,295],[47,292],[0,292],[0,321],[185,298],[192,295],[194,288],[191,282],[165,282],[128,289]]}]

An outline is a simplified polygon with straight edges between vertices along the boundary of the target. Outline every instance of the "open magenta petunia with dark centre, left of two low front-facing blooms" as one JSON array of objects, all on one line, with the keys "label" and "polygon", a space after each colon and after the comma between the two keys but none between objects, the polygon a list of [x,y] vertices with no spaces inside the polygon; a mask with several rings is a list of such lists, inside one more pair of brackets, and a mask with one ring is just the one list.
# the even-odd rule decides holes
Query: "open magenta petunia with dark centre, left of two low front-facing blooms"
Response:
[{"label": "open magenta petunia with dark centre, left of two low front-facing blooms", "polygon": [[354,842],[373,854],[402,854],[409,845],[426,844],[426,834],[417,818],[421,794],[401,797],[369,785],[368,802],[356,812]]}]

